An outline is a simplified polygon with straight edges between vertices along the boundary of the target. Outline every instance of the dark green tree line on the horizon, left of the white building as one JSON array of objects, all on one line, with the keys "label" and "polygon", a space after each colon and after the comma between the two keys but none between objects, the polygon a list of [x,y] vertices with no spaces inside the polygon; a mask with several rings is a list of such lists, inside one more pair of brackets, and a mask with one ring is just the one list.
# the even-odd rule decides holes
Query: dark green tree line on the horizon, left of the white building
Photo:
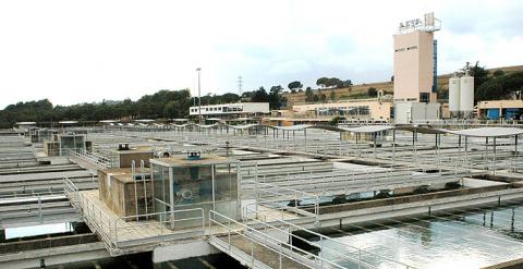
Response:
[{"label": "dark green tree line on the horizon, left of the white building", "polygon": [[[235,94],[207,95],[202,97],[202,105],[235,102],[240,97]],[[100,121],[108,119],[172,119],[187,118],[188,107],[195,102],[188,89],[159,90],[145,95],[136,101],[78,103],[72,106],[53,106],[48,99],[17,102],[0,110],[0,124],[10,127],[16,122],[57,122],[64,120]],[[197,98],[196,98],[197,103]]]}]

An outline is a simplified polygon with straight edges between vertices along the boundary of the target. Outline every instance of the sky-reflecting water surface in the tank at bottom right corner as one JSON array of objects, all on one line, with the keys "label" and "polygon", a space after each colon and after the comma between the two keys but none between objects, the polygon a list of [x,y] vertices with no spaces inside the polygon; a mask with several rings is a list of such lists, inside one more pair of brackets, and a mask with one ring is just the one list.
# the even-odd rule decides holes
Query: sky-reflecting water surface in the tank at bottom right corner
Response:
[{"label": "sky-reflecting water surface in the tank at bottom right corner", "polygon": [[[472,209],[469,209],[472,210]],[[329,236],[415,268],[482,268],[523,258],[523,206],[449,212],[431,218],[408,218],[373,228],[344,225]],[[340,249],[340,244],[324,242]],[[340,249],[345,254],[349,248]],[[326,258],[358,268],[346,257],[324,252]],[[376,268],[405,268],[375,256],[362,258]],[[372,268],[372,267],[362,267]]]}]

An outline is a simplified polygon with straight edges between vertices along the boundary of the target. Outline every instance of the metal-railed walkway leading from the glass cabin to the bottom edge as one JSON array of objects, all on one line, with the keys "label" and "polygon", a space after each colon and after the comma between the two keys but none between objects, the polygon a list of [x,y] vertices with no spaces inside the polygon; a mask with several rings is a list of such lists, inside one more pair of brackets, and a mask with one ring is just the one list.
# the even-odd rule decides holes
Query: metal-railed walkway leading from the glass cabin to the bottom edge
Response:
[{"label": "metal-railed walkway leading from the glass cabin to the bottom edge", "polygon": [[209,211],[208,242],[250,268],[414,268],[277,218],[244,218]]}]

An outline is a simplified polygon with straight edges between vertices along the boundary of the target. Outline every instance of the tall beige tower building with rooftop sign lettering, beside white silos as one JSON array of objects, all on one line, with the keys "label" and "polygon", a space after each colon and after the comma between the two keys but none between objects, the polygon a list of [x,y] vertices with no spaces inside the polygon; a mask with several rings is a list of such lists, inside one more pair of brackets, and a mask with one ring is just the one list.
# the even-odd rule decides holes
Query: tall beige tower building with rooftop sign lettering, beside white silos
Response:
[{"label": "tall beige tower building with rooftop sign lettering, beside white silos", "polygon": [[[427,13],[424,19],[400,23],[393,36],[394,53],[394,122],[437,120],[437,40],[434,33],[441,22]],[[423,113],[419,113],[423,111]]]}]

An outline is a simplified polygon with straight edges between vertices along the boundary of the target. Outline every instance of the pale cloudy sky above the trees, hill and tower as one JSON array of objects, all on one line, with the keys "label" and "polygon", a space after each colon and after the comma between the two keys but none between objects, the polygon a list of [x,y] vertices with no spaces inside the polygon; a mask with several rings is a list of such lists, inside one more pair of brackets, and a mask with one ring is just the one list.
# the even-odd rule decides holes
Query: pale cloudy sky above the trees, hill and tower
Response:
[{"label": "pale cloudy sky above the trees, hill and tower", "polygon": [[[523,64],[523,1],[0,2],[0,108],[136,99],[158,89],[238,91],[320,76],[389,80],[400,22],[434,11],[439,72]],[[194,91],[193,91],[194,93]]]}]

